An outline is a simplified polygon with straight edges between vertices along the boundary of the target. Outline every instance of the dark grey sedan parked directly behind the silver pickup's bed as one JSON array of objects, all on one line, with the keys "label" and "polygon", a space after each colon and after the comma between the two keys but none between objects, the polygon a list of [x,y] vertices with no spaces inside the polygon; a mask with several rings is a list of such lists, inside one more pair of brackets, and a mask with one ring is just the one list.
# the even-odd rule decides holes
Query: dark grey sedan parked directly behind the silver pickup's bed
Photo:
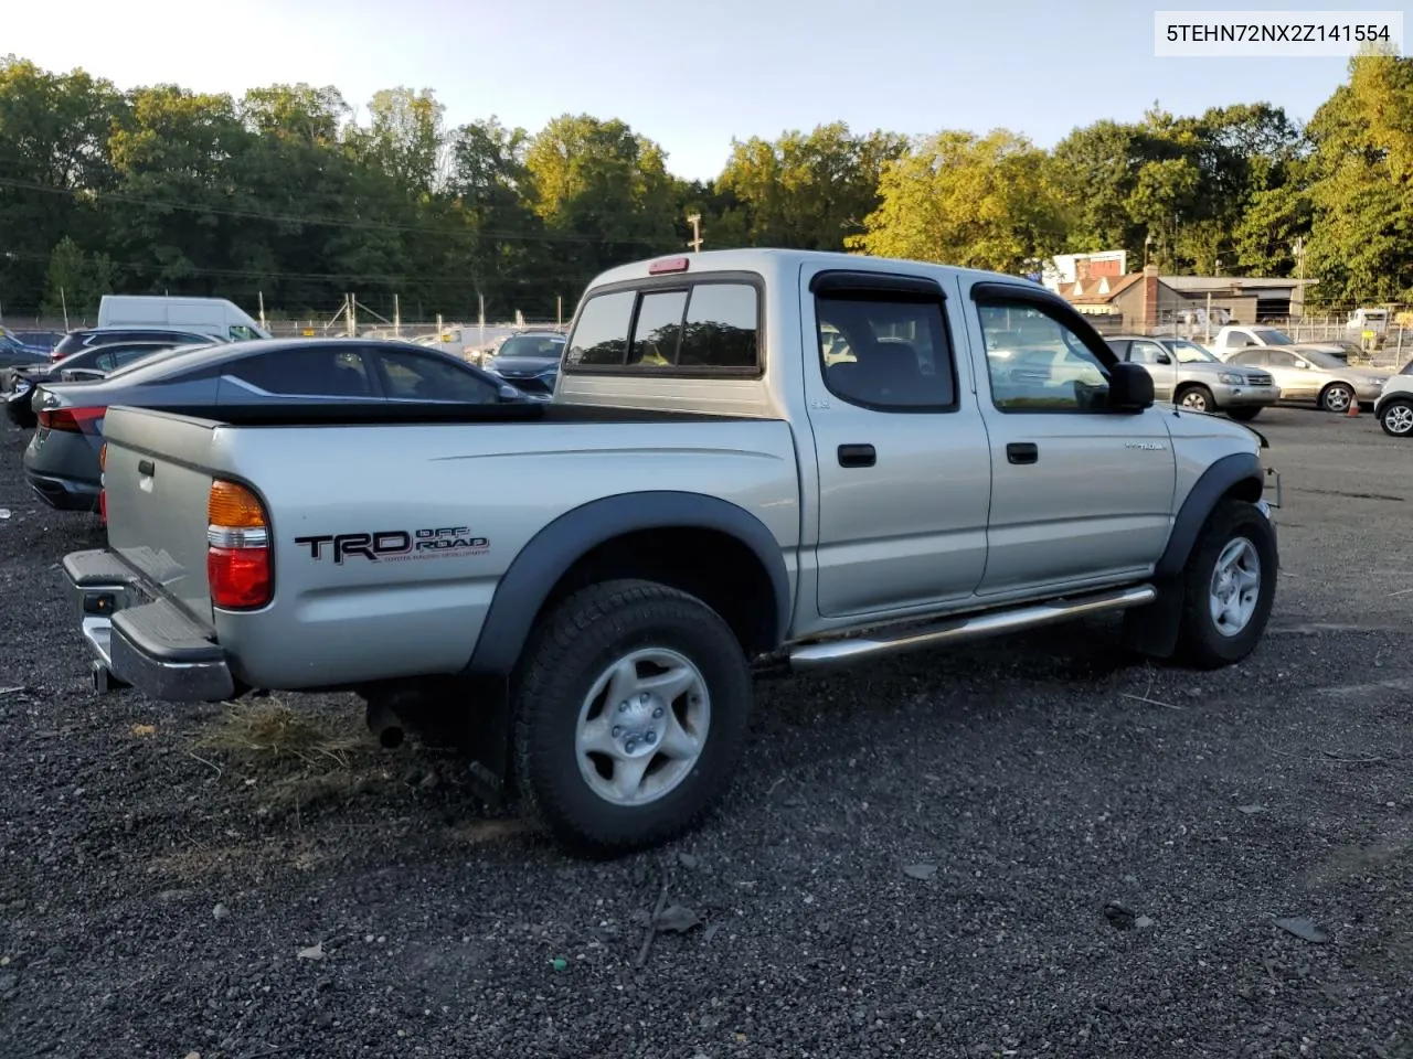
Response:
[{"label": "dark grey sedan parked directly behind the silver pickup's bed", "polygon": [[103,417],[112,405],[222,407],[271,402],[520,402],[509,383],[435,350],[359,339],[252,340],[182,347],[95,383],[44,383],[24,452],[30,487],[51,507],[97,510]]}]

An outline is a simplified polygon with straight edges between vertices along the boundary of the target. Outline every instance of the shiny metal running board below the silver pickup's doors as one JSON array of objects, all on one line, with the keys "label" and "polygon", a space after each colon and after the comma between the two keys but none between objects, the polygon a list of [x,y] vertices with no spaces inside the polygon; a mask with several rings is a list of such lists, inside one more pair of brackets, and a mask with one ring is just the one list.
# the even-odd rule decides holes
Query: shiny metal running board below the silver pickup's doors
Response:
[{"label": "shiny metal running board below the silver pickup's doors", "polygon": [[1098,592],[1087,596],[1051,600],[1050,603],[1036,603],[1015,610],[947,618],[931,626],[914,626],[894,635],[879,634],[801,644],[800,647],[790,648],[790,665],[794,669],[827,669],[868,658],[917,651],[924,647],[981,640],[982,637],[1005,633],[1019,633],[1026,628],[1048,626],[1056,621],[1068,621],[1070,618],[1098,614],[1105,610],[1142,607],[1154,599],[1157,599],[1157,590],[1152,585],[1139,585],[1116,592]]}]

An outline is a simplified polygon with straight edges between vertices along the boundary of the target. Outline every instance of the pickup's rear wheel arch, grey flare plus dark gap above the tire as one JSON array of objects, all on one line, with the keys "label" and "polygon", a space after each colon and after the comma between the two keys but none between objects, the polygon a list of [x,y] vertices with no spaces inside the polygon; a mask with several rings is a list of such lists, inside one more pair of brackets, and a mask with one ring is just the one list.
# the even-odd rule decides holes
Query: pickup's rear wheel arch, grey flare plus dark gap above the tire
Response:
[{"label": "pickup's rear wheel arch, grey flare plus dark gap above the tire", "polygon": [[466,675],[506,675],[550,607],[615,578],[660,580],[722,614],[747,654],[783,642],[791,594],[784,554],[752,513],[719,497],[675,490],[620,493],[564,513],[510,563]]}]

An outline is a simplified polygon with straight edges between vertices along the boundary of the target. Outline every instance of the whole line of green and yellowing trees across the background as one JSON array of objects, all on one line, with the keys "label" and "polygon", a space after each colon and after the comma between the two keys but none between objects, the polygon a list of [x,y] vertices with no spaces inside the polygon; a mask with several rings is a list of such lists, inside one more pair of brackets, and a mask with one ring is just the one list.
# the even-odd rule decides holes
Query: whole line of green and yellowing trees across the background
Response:
[{"label": "whole line of green and yellowing trees across the background", "polygon": [[92,313],[110,291],[211,294],[285,315],[345,292],[406,319],[552,316],[596,273],[783,246],[1024,274],[1126,249],[1164,273],[1320,280],[1317,302],[1413,301],[1413,59],[1362,55],[1300,126],[1269,103],[1096,121],[1051,150],[1009,130],[733,141],[684,181],[627,124],[448,127],[428,90],[240,99],[119,92],[0,59],[0,312]]}]

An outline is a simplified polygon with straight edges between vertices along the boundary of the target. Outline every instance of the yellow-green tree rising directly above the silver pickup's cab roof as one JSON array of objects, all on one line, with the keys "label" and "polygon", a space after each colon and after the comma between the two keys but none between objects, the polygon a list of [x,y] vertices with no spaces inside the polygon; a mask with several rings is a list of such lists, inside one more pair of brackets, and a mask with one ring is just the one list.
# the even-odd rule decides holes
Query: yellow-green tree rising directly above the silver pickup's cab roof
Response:
[{"label": "yellow-green tree rising directly above the silver pickup's cab roof", "polygon": [[944,131],[890,162],[882,205],[846,244],[1022,274],[1064,240],[1063,212],[1044,151],[1007,130]]}]

